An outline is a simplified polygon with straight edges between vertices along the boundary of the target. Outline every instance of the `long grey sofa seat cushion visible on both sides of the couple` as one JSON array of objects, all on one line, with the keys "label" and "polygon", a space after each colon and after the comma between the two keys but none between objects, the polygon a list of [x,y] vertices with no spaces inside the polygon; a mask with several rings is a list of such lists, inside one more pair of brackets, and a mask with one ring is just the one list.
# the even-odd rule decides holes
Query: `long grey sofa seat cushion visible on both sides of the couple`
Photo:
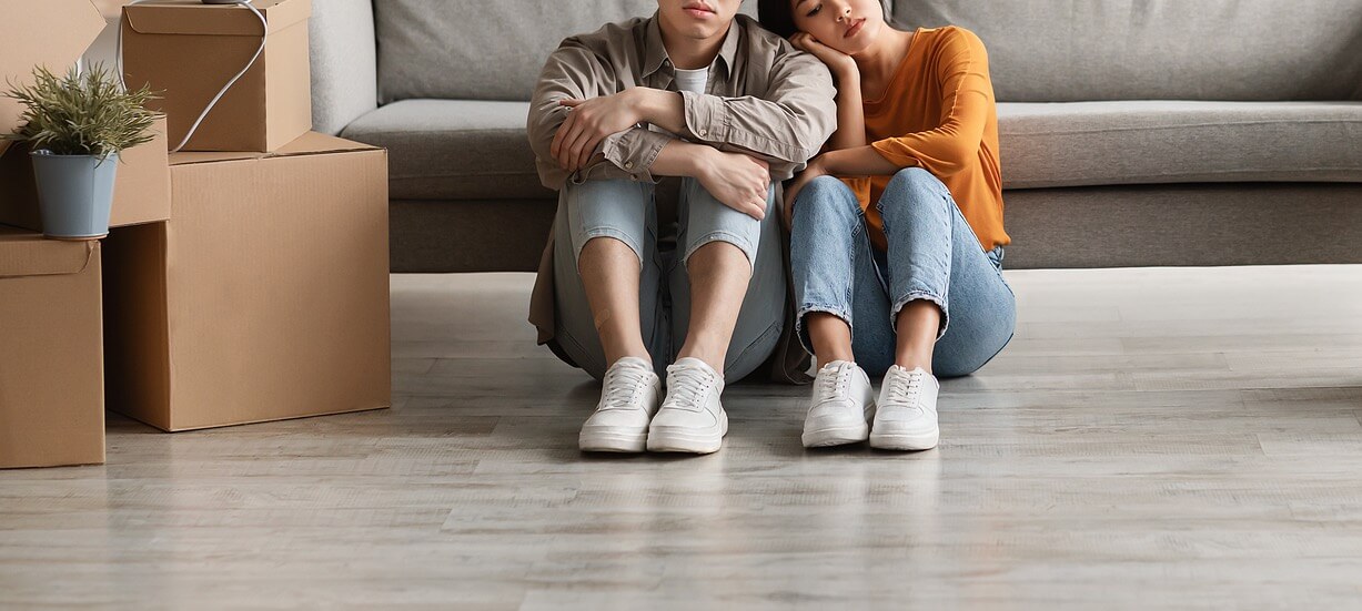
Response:
[{"label": "long grey sofa seat cushion visible on both sides of the couple", "polygon": [[[527,102],[407,99],[342,136],[388,148],[394,199],[552,199],[534,169],[527,112]],[[1355,102],[1004,102],[998,131],[1009,189],[1362,182]]]}]

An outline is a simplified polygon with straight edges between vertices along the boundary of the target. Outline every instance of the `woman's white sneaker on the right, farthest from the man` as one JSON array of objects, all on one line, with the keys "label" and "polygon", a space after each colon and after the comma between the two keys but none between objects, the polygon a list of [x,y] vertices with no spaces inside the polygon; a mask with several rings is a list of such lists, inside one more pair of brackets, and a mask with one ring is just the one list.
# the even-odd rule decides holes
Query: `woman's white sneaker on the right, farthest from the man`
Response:
[{"label": "woman's white sneaker on the right, farthest from the man", "polygon": [[936,448],[936,399],[941,385],[922,367],[911,371],[898,365],[884,374],[878,411],[870,427],[870,448],[925,450]]}]

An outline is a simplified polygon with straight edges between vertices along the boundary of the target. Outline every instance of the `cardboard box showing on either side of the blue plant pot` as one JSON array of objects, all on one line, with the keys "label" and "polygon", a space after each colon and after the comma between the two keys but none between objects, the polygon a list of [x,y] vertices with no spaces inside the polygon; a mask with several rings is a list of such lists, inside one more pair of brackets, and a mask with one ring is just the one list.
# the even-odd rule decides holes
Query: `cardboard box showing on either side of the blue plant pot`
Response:
[{"label": "cardboard box showing on either side of the blue plant pot", "polygon": [[[166,121],[157,120],[155,139],[123,151],[113,186],[109,226],[151,223],[170,218],[170,165]],[[42,231],[38,185],[33,180],[29,146],[19,143],[0,154],[0,223]]]}]

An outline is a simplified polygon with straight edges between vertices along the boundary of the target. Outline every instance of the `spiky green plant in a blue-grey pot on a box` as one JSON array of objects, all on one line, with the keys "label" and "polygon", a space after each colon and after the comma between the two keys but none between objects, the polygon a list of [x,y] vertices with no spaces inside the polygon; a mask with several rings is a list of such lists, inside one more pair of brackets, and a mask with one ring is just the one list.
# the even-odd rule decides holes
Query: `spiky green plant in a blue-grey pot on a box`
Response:
[{"label": "spiky green plant in a blue-grey pot on a box", "polygon": [[56,76],[45,67],[34,83],[10,84],[4,95],[23,106],[23,127],[0,135],[26,142],[38,186],[42,233],[59,240],[97,240],[109,234],[109,208],[118,151],[151,140],[155,113],[146,109],[150,88],[125,91],[102,65]]}]

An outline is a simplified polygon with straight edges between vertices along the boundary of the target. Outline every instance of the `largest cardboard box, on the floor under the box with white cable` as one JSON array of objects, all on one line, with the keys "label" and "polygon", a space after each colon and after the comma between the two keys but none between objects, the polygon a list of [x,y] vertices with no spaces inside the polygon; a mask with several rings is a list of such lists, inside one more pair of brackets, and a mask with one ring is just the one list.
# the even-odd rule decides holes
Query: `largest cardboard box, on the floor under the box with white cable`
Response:
[{"label": "largest cardboard box, on the floor under the box with white cable", "polygon": [[170,155],[170,220],[105,240],[109,408],[188,430],[391,406],[387,151]]}]

